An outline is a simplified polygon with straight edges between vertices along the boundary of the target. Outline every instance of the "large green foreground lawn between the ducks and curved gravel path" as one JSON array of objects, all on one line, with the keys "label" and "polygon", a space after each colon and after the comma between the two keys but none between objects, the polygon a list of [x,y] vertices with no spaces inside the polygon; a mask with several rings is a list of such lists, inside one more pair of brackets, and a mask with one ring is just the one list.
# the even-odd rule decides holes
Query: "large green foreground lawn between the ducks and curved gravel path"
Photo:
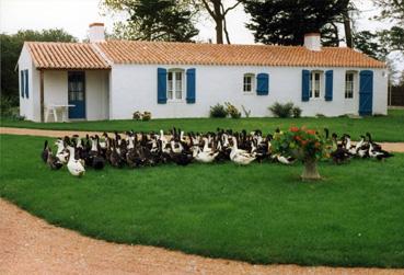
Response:
[{"label": "large green foreground lawn between the ducks and curved gravel path", "polygon": [[107,168],[77,179],[42,162],[44,138],[0,138],[0,196],[86,236],[252,263],[404,267],[404,154],[323,162],[316,183],[300,182],[300,163]]}]

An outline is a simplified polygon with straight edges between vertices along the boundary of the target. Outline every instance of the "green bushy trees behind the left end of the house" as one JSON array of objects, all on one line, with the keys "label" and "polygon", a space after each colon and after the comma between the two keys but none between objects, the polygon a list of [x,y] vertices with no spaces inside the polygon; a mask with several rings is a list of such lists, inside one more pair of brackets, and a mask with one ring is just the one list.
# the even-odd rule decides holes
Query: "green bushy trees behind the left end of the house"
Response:
[{"label": "green bushy trees behind the left end of the house", "polygon": [[16,34],[0,34],[1,42],[1,101],[19,104],[19,75],[14,70],[25,41],[76,42],[77,39],[64,30],[19,31]]}]

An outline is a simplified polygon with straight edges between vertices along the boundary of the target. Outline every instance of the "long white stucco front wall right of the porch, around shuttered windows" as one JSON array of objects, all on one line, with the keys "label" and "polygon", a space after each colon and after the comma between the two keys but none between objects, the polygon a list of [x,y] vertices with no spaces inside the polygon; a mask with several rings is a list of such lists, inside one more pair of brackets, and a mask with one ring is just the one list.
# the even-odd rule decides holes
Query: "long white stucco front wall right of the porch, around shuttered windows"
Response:
[{"label": "long white stucco front wall right of the porch, around shuttered windows", "polygon": [[[157,68],[196,69],[196,103],[182,102],[157,103]],[[324,100],[324,90],[320,99],[301,101],[302,69],[333,70],[333,101]],[[206,117],[209,107],[217,103],[231,102],[239,110],[244,105],[251,110],[251,116],[270,116],[268,106],[276,101],[293,102],[302,108],[303,116],[323,114],[338,116],[358,114],[359,79],[356,78],[354,99],[345,99],[345,72],[360,71],[362,68],[301,68],[301,67],[253,67],[253,66],[166,66],[166,65],[114,65],[111,72],[109,118],[130,118],[135,111],[150,111],[152,117]],[[388,79],[383,69],[373,70],[373,113],[386,114]],[[266,72],[269,75],[269,94],[256,95],[243,93],[243,75]],[[325,85],[323,78],[323,87]],[[185,83],[186,87],[186,83]]]}]

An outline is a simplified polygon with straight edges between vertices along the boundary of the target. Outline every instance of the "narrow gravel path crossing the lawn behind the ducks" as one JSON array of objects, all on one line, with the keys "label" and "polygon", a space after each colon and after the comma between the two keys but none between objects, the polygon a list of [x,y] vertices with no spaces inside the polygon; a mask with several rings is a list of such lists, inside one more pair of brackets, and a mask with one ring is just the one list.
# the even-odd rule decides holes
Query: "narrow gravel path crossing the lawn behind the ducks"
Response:
[{"label": "narrow gravel path crossing the lawn behind the ducks", "polygon": [[[0,127],[0,134],[10,135],[28,135],[28,136],[39,136],[39,137],[64,137],[72,136],[74,134],[79,136],[102,135],[100,131],[79,131],[79,130],[44,130],[44,129],[26,129],[26,128],[11,128],[11,127]],[[404,142],[379,142],[384,150],[391,152],[404,152]]]}]

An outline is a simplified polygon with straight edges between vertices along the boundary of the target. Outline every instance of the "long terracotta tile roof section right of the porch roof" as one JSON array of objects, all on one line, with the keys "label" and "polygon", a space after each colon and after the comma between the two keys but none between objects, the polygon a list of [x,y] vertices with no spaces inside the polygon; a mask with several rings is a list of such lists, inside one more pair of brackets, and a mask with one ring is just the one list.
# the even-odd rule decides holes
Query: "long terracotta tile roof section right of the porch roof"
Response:
[{"label": "long terracotta tile roof section right of the porch roof", "polygon": [[107,41],[96,44],[114,64],[239,65],[383,68],[385,64],[346,47],[217,45]]}]

